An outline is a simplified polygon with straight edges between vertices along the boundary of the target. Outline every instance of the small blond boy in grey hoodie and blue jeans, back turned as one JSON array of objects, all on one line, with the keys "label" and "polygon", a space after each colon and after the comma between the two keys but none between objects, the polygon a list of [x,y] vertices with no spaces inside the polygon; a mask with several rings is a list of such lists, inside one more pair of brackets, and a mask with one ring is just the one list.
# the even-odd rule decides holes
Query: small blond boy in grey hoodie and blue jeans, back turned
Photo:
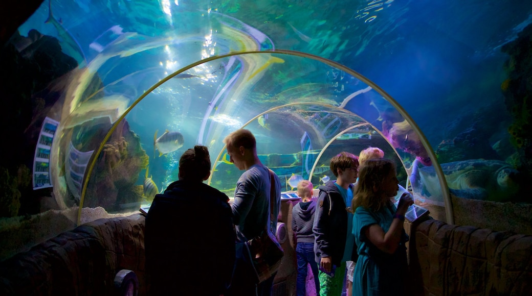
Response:
[{"label": "small blond boy in grey hoodie and blue jeans, back turned", "polygon": [[297,257],[297,296],[306,294],[306,274],[307,264],[310,264],[314,274],[314,284],[316,291],[320,289],[318,277],[318,264],[314,259],[314,233],[312,232],[312,223],[314,221],[314,212],[316,202],[312,201],[312,190],[314,186],[308,180],[302,180],[297,184],[297,195],[302,201],[292,208],[292,231],[294,232],[294,242],[296,243]]}]

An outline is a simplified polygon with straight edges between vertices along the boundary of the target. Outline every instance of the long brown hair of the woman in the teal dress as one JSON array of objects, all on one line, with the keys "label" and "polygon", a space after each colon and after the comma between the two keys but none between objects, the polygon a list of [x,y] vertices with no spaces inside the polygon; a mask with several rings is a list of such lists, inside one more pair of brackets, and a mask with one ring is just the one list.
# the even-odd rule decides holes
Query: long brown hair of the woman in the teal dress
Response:
[{"label": "long brown hair of the woman in the teal dress", "polygon": [[[364,161],[359,170],[358,186],[355,188],[351,208],[354,213],[362,206],[377,212],[391,204],[390,198],[382,190],[384,178],[390,172],[395,172],[395,162],[389,159],[369,159]],[[373,188],[377,189],[376,191]]]}]

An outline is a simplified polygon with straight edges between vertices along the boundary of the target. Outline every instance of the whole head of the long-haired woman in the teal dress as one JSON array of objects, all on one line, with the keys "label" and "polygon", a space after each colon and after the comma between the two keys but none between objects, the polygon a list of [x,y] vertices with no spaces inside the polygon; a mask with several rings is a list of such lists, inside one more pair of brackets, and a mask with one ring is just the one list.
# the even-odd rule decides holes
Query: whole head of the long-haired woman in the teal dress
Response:
[{"label": "whole head of the long-haired woman in the teal dress", "polygon": [[359,206],[379,211],[391,203],[390,197],[397,194],[398,184],[395,162],[389,159],[366,160],[360,167],[353,211]]}]

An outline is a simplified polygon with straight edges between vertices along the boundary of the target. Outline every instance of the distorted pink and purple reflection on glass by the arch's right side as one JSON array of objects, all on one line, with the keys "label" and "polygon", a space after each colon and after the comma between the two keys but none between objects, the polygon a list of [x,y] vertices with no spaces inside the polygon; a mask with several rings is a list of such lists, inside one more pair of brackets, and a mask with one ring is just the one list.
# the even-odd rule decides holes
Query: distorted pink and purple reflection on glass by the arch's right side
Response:
[{"label": "distorted pink and purple reflection on glass by the arch's right side", "polygon": [[415,155],[425,166],[432,164],[427,150],[408,121],[394,123],[388,131],[388,140],[394,147]]}]

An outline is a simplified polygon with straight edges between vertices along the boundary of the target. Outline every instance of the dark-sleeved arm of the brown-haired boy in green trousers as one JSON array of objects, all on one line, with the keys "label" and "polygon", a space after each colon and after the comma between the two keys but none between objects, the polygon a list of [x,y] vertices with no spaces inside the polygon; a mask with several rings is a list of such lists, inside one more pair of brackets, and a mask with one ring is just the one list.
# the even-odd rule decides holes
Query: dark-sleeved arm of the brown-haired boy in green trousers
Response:
[{"label": "dark-sleeved arm of the brown-haired boy in green trousers", "polygon": [[329,255],[329,198],[327,193],[322,192],[320,194],[317,206],[312,223],[312,232],[314,232],[314,242],[320,252],[320,265],[330,272],[332,260]]}]

